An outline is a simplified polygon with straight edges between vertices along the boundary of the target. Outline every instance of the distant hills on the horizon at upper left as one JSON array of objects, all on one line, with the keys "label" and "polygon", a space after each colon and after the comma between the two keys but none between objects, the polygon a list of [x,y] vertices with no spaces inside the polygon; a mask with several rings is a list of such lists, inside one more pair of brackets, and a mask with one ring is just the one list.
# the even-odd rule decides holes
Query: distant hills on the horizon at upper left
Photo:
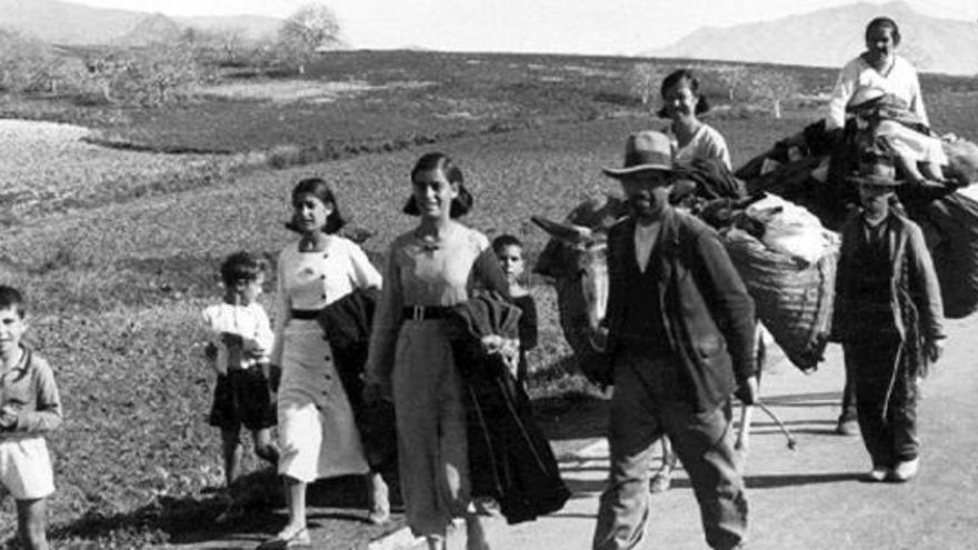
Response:
[{"label": "distant hills on the horizon at upper left", "polygon": [[258,16],[168,18],[61,0],[0,0],[0,26],[60,44],[144,43],[139,28],[163,34],[188,27],[236,29],[246,39],[257,39],[275,32],[279,23],[278,19]]}]

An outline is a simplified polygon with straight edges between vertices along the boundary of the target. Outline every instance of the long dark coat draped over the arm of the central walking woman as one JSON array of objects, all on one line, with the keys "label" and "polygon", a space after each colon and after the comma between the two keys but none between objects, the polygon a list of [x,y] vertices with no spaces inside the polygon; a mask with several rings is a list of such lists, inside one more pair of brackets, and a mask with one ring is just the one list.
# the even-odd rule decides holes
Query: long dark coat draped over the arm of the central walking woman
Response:
[{"label": "long dark coat draped over the arm of the central walking woman", "polygon": [[499,354],[481,339],[515,339],[520,310],[489,294],[452,308],[452,354],[462,376],[473,497],[491,497],[509,523],[555,512],[570,498],[529,399]]}]

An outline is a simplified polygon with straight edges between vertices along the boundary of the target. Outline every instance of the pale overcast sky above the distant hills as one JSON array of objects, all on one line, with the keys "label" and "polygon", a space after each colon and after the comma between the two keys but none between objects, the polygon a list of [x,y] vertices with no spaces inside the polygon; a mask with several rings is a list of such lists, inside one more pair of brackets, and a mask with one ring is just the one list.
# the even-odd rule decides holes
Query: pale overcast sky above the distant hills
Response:
[{"label": "pale overcast sky above the distant hills", "polygon": [[[286,17],[309,0],[73,0],[171,16]],[[635,54],[699,27],[777,19],[856,0],[326,0],[357,48]],[[865,0],[866,1],[866,0]],[[868,0],[871,3],[885,3]],[[978,19],[976,0],[906,0]],[[976,29],[978,30],[978,29]]]}]

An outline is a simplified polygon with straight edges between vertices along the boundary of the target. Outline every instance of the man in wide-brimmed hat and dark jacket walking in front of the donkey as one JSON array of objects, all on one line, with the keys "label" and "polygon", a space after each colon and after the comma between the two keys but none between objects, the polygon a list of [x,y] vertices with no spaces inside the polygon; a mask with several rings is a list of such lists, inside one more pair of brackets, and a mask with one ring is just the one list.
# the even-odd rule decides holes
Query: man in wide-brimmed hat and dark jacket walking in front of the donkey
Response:
[{"label": "man in wide-brimmed hat and dark jacket walking in front of the donkey", "polygon": [[673,162],[660,132],[629,136],[621,182],[630,216],[608,231],[605,342],[615,391],[611,467],[593,548],[636,548],[649,518],[652,446],[663,434],[689,472],[707,542],[740,548],[747,499],[725,410],[752,403],[754,301],[717,233],[669,204]]}]

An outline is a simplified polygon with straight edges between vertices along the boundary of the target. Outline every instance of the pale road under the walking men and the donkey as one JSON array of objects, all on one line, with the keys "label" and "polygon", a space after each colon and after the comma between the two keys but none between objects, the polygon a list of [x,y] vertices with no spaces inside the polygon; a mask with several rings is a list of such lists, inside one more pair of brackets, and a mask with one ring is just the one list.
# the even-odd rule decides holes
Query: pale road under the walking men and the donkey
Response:
[{"label": "pale road under the walking men and the donkey", "polygon": [[[782,363],[767,376],[765,402],[795,432],[798,447],[788,450],[757,412],[746,466],[751,550],[978,548],[978,320],[950,323],[948,333],[945,357],[924,384],[920,473],[906,484],[859,481],[870,466],[861,439],[832,432],[842,386],[838,347],[815,374]],[[575,498],[533,523],[495,521],[493,549],[590,548],[607,447],[587,442],[562,468]],[[646,548],[707,548],[683,476],[653,496],[652,507]],[[461,539],[451,548],[465,548]]]}]

